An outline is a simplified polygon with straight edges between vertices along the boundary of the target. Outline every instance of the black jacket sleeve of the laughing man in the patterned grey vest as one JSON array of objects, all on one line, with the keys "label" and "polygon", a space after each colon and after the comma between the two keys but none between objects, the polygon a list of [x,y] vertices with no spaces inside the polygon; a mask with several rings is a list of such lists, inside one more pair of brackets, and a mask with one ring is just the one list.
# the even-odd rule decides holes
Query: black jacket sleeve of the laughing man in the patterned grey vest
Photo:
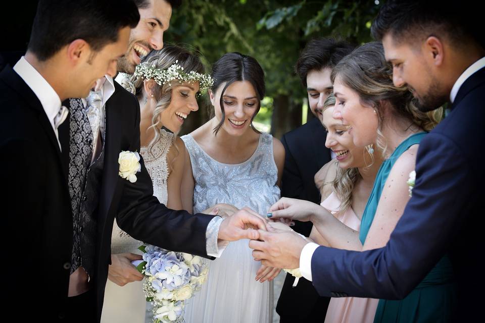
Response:
[{"label": "black jacket sleeve of the laughing man in the patterned grey vest", "polygon": [[[140,151],[140,111],[138,101],[134,119],[133,141],[130,151]],[[133,238],[172,251],[183,251],[208,257],[206,229],[214,218],[205,214],[192,214],[185,210],[175,211],[161,204],[153,196],[150,175],[140,156],[141,171],[136,173],[135,183],[119,178],[123,194],[118,207],[118,226]]]}]

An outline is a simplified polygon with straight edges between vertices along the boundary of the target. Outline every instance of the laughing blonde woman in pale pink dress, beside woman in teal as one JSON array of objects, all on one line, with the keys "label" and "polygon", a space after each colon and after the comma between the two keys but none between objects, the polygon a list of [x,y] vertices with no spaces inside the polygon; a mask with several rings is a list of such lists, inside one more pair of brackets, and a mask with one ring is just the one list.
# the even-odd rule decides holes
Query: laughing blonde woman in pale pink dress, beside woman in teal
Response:
[{"label": "laughing blonde woman in pale pink dress, beside woman in teal", "polygon": [[[362,213],[383,159],[372,146],[366,149],[354,145],[347,127],[332,118],[334,104],[332,94],[323,104],[321,122],[327,131],[325,146],[335,152],[336,158],[315,175],[315,183],[321,189],[321,205],[344,225],[359,231]],[[315,227],[310,238],[320,245],[352,249],[345,241],[330,244]],[[372,323],[378,301],[358,297],[331,298],[325,323]]]}]

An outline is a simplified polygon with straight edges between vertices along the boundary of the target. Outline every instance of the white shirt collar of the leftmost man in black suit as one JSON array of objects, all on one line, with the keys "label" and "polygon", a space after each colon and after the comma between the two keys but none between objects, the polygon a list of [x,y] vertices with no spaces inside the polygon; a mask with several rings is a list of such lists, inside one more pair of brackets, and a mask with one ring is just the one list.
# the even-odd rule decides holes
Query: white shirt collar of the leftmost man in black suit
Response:
[{"label": "white shirt collar of the leftmost man in black suit", "polygon": [[22,78],[22,80],[24,80],[39,99],[40,104],[42,104],[42,108],[47,115],[47,119],[49,119],[52,129],[54,130],[59,148],[61,148],[57,127],[66,120],[69,110],[65,106],[61,106],[61,99],[53,87],[23,56],[17,64],[15,64],[14,71]]}]

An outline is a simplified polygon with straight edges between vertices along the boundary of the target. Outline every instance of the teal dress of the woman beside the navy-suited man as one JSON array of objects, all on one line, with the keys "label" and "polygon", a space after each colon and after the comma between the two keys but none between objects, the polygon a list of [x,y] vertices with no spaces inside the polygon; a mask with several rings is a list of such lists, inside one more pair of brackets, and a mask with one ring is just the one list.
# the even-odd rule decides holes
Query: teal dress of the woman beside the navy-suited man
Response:
[{"label": "teal dress of the woman beside the navy-suited man", "polygon": [[[375,178],[360,227],[359,238],[365,242],[385,181],[396,160],[412,145],[418,144],[426,133],[414,134],[404,140],[389,158],[384,160]],[[404,181],[407,181],[407,177]],[[439,230],[439,228],[437,228]],[[445,255],[423,281],[402,300],[379,300],[374,322],[447,322],[455,299],[453,271]]]}]

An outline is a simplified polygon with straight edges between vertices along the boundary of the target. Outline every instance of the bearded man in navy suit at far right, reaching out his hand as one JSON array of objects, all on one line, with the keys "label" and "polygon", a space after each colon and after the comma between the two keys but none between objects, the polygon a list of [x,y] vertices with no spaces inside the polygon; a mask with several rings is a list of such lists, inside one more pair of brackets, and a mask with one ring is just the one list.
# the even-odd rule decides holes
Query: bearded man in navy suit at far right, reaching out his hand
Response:
[{"label": "bearded man in navy suit at far right, reaching out his hand", "polygon": [[[300,267],[320,295],[401,299],[448,253],[456,313],[463,321],[481,315],[485,50],[474,15],[466,1],[453,8],[389,1],[373,23],[395,85],[407,85],[422,111],[451,102],[450,114],[420,143],[412,198],[386,246],[347,251],[307,244],[294,233],[263,233],[263,241],[250,242],[255,258]],[[291,205],[279,208],[285,210],[277,217],[311,220]]]}]

